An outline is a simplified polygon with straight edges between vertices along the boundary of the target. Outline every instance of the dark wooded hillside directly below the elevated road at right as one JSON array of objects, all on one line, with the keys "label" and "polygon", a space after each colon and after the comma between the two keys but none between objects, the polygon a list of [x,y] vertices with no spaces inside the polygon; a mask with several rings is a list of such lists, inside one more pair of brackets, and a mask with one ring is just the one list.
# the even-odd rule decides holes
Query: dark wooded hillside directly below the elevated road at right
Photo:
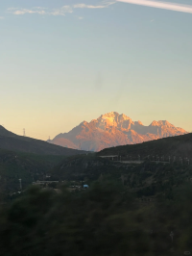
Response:
[{"label": "dark wooded hillside directly below the elevated road at right", "polygon": [[190,163],[155,163],[145,161],[140,165],[109,161],[89,154],[65,158],[51,171],[56,180],[73,182],[84,181],[91,184],[102,177],[121,181],[129,191],[138,197],[171,196],[171,191],[184,182],[191,182],[192,165]]}]

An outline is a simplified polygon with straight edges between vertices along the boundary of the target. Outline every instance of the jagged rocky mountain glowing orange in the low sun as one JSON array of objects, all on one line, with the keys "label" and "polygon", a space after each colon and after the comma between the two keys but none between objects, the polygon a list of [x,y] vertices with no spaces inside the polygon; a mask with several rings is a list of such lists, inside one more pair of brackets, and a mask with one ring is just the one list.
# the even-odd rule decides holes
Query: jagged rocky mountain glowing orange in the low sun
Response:
[{"label": "jagged rocky mountain glowing orange in the low sun", "polygon": [[187,132],[166,120],[153,121],[145,126],[127,115],[110,112],[90,122],[83,121],[68,133],[59,134],[52,141],[65,147],[99,151],[107,147],[153,141]]}]

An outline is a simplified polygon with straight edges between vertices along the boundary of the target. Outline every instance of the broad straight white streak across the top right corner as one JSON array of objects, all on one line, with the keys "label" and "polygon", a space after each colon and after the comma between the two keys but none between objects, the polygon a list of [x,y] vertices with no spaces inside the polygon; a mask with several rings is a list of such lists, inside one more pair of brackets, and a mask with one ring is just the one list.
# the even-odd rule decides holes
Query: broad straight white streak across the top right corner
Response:
[{"label": "broad straight white streak across the top right corner", "polygon": [[148,0],[117,0],[118,2],[124,2],[133,5],[149,6],[154,8],[166,9],[182,13],[192,13],[192,6],[180,5],[175,3],[156,2]]}]

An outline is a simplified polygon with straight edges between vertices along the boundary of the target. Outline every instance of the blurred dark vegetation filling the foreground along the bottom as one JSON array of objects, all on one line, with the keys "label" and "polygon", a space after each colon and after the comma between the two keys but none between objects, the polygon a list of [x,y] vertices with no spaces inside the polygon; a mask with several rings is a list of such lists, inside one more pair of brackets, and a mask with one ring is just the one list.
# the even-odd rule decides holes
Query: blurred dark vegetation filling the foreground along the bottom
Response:
[{"label": "blurred dark vegetation filling the foreground along the bottom", "polygon": [[36,186],[0,215],[0,255],[183,255],[192,245],[192,188],[140,203],[108,178],[82,192]]}]

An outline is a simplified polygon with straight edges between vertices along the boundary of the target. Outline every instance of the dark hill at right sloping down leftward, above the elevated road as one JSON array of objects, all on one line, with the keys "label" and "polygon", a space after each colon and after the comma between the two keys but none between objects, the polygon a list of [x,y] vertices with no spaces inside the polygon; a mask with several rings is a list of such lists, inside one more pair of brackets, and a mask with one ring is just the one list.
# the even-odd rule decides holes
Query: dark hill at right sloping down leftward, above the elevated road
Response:
[{"label": "dark hill at right sloping down leftward, above the elevated road", "polygon": [[192,160],[192,134],[180,135],[176,137],[147,141],[133,145],[122,145],[106,148],[98,156],[118,155],[124,159],[164,159],[168,161],[188,158]]}]

